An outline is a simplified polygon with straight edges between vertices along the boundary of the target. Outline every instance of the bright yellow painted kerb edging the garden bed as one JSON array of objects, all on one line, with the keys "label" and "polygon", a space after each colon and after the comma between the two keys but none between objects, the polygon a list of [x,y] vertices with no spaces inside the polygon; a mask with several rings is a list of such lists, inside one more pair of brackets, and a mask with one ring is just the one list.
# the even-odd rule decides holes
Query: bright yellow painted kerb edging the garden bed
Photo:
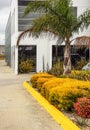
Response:
[{"label": "bright yellow painted kerb edging the garden bed", "polygon": [[27,82],[23,83],[27,91],[42,105],[48,113],[61,125],[63,130],[80,130],[71,120],[69,120],[62,112],[51,105],[43,96],[35,91]]}]

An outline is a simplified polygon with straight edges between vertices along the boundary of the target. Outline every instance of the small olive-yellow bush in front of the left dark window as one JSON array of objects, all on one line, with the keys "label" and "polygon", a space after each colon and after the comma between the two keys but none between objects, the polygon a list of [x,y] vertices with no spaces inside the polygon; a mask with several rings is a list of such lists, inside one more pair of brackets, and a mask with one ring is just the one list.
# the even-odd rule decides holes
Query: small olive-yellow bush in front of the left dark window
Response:
[{"label": "small olive-yellow bush in front of the left dark window", "polygon": [[20,73],[29,73],[33,68],[32,60],[27,59],[26,61],[21,61],[19,64]]}]

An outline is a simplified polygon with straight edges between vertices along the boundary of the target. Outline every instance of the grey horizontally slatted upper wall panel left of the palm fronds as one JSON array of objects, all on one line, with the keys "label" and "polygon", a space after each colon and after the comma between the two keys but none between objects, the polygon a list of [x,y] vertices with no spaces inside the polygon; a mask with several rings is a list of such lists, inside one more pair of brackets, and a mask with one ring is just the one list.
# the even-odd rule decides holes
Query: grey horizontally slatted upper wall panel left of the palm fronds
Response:
[{"label": "grey horizontally slatted upper wall panel left of the palm fronds", "polygon": [[18,31],[24,31],[31,27],[32,21],[39,17],[40,13],[31,12],[24,16],[24,10],[28,3],[35,0],[18,0]]}]

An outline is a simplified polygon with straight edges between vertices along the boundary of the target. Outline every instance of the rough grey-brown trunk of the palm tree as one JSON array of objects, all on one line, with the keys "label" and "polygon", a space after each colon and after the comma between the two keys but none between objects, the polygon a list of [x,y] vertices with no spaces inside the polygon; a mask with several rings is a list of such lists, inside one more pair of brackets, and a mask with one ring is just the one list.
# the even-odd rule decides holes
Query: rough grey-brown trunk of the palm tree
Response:
[{"label": "rough grey-brown trunk of the palm tree", "polygon": [[64,63],[63,63],[63,74],[66,75],[71,72],[71,56],[70,56],[70,43],[66,42],[64,50]]}]

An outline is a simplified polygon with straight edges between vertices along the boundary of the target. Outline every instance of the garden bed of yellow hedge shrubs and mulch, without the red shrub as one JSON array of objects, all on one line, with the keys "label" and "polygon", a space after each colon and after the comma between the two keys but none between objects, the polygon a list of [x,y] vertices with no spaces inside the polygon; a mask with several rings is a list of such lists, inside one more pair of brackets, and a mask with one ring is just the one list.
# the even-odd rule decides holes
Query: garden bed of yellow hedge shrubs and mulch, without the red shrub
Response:
[{"label": "garden bed of yellow hedge shrubs and mulch, without the red shrub", "polygon": [[[81,130],[89,130],[90,127],[81,122],[81,117],[74,110],[74,103],[78,98],[90,99],[90,82],[70,78],[56,78],[47,73],[34,74],[30,80],[32,87],[41,93],[51,104],[62,111]],[[90,109],[89,109],[90,110]],[[90,112],[89,112],[90,115]],[[87,120],[90,124],[90,118]]]}]

